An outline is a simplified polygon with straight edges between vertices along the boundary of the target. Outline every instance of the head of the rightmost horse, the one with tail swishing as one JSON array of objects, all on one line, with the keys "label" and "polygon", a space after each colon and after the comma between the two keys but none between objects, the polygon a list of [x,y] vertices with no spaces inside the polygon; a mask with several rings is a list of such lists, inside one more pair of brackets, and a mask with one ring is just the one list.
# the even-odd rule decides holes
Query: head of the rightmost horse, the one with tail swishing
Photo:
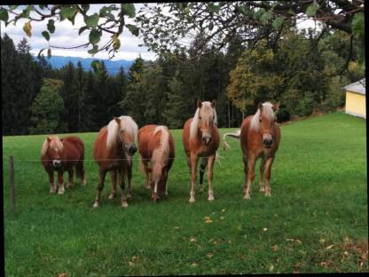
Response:
[{"label": "head of the rightmost horse, the one with tail swishing", "polygon": [[263,145],[265,148],[271,148],[273,143],[273,124],[276,120],[275,112],[278,110],[277,104],[273,105],[270,102],[259,103],[257,118],[259,122],[259,131],[263,135]]}]

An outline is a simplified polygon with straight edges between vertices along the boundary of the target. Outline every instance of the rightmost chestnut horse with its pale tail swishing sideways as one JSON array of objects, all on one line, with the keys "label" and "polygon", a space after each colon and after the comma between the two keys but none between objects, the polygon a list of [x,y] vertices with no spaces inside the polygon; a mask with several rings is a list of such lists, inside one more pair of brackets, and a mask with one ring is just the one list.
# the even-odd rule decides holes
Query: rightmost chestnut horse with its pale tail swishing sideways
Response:
[{"label": "rightmost chestnut horse with its pale tail swishing sideways", "polygon": [[[225,142],[226,137],[240,140],[245,171],[244,199],[250,198],[250,186],[255,178],[255,162],[258,158],[262,158],[260,192],[271,196],[271,165],[278,151],[281,135],[275,115],[278,108],[278,105],[273,105],[271,102],[259,103],[255,115],[249,115],[243,120],[240,131],[224,134],[224,149],[228,147]],[[265,184],[263,183],[264,174]]]}]

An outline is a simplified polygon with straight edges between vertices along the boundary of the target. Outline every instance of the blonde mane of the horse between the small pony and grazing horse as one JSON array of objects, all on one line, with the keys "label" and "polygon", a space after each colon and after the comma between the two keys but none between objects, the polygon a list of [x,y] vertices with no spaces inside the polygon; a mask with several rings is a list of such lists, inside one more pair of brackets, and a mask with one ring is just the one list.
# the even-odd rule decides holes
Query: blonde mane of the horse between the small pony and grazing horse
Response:
[{"label": "blonde mane of the horse between the small pony and grazing horse", "polygon": [[107,124],[107,149],[112,149],[115,146],[120,131],[127,131],[130,133],[130,135],[133,136],[135,143],[137,143],[137,123],[134,122],[132,117],[127,115],[122,115],[119,118],[121,119],[120,125],[118,125],[114,119]]}]

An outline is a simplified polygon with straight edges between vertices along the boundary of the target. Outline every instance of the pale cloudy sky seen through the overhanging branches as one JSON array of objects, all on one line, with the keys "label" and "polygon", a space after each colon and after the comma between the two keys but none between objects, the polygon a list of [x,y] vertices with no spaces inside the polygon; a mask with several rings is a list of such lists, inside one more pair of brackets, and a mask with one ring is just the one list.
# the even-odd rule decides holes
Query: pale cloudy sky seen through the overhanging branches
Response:
[{"label": "pale cloudy sky seen through the overhanging branches", "polygon": [[[93,14],[94,12],[98,12],[103,4],[90,4],[90,10],[88,14]],[[143,6],[143,4],[135,4],[136,12]],[[17,10],[21,11],[19,7]],[[16,11],[17,11],[16,10]],[[18,20],[17,25],[9,24],[6,28],[4,25],[4,21],[1,21],[1,36],[4,36],[4,33],[8,34],[17,45],[23,37],[27,37],[28,43],[31,45],[31,53],[37,55],[37,53],[43,49],[48,48],[49,43],[43,38],[41,33],[43,30],[46,30],[46,24],[48,20],[44,20],[41,22],[33,21],[32,24],[32,36],[27,37],[25,32],[23,31],[23,25],[27,20]],[[126,18],[126,24],[134,23],[132,19]],[[75,17],[75,25],[69,20],[63,20],[61,22],[55,20],[55,33],[51,34],[50,44],[56,46],[75,46],[79,44],[85,44],[89,41],[89,32],[85,31],[81,36],[78,36],[78,30],[84,26],[83,18],[81,14],[78,14]],[[314,28],[313,20],[304,20],[300,24],[298,24],[300,28]],[[106,34],[103,32],[103,36],[101,37],[99,45],[104,45],[110,38],[110,34]],[[143,59],[154,60],[155,54],[152,51],[147,51],[145,46],[139,47],[138,44],[143,44],[143,40],[140,36],[133,36],[130,34],[130,31],[127,28],[123,29],[122,35],[119,37],[121,40],[121,48],[115,54],[113,60],[118,59],[136,59],[138,55],[141,55]],[[90,47],[88,48],[90,49]],[[92,58],[92,56],[87,52],[86,48],[79,49],[51,49],[51,53],[53,56],[69,56],[69,57],[81,57],[81,58]],[[46,51],[44,52],[46,54]],[[99,51],[93,58],[97,59],[108,59],[107,51]]]}]

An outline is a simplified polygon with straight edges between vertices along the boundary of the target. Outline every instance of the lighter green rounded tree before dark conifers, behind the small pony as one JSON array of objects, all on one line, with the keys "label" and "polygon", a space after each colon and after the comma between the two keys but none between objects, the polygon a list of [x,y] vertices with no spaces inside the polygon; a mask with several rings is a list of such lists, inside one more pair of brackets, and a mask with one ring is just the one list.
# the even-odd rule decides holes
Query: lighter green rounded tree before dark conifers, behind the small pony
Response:
[{"label": "lighter green rounded tree before dark conifers, behind the small pony", "polygon": [[30,134],[51,134],[66,131],[62,122],[64,101],[59,94],[63,83],[60,80],[45,79],[43,87],[32,103]]}]

